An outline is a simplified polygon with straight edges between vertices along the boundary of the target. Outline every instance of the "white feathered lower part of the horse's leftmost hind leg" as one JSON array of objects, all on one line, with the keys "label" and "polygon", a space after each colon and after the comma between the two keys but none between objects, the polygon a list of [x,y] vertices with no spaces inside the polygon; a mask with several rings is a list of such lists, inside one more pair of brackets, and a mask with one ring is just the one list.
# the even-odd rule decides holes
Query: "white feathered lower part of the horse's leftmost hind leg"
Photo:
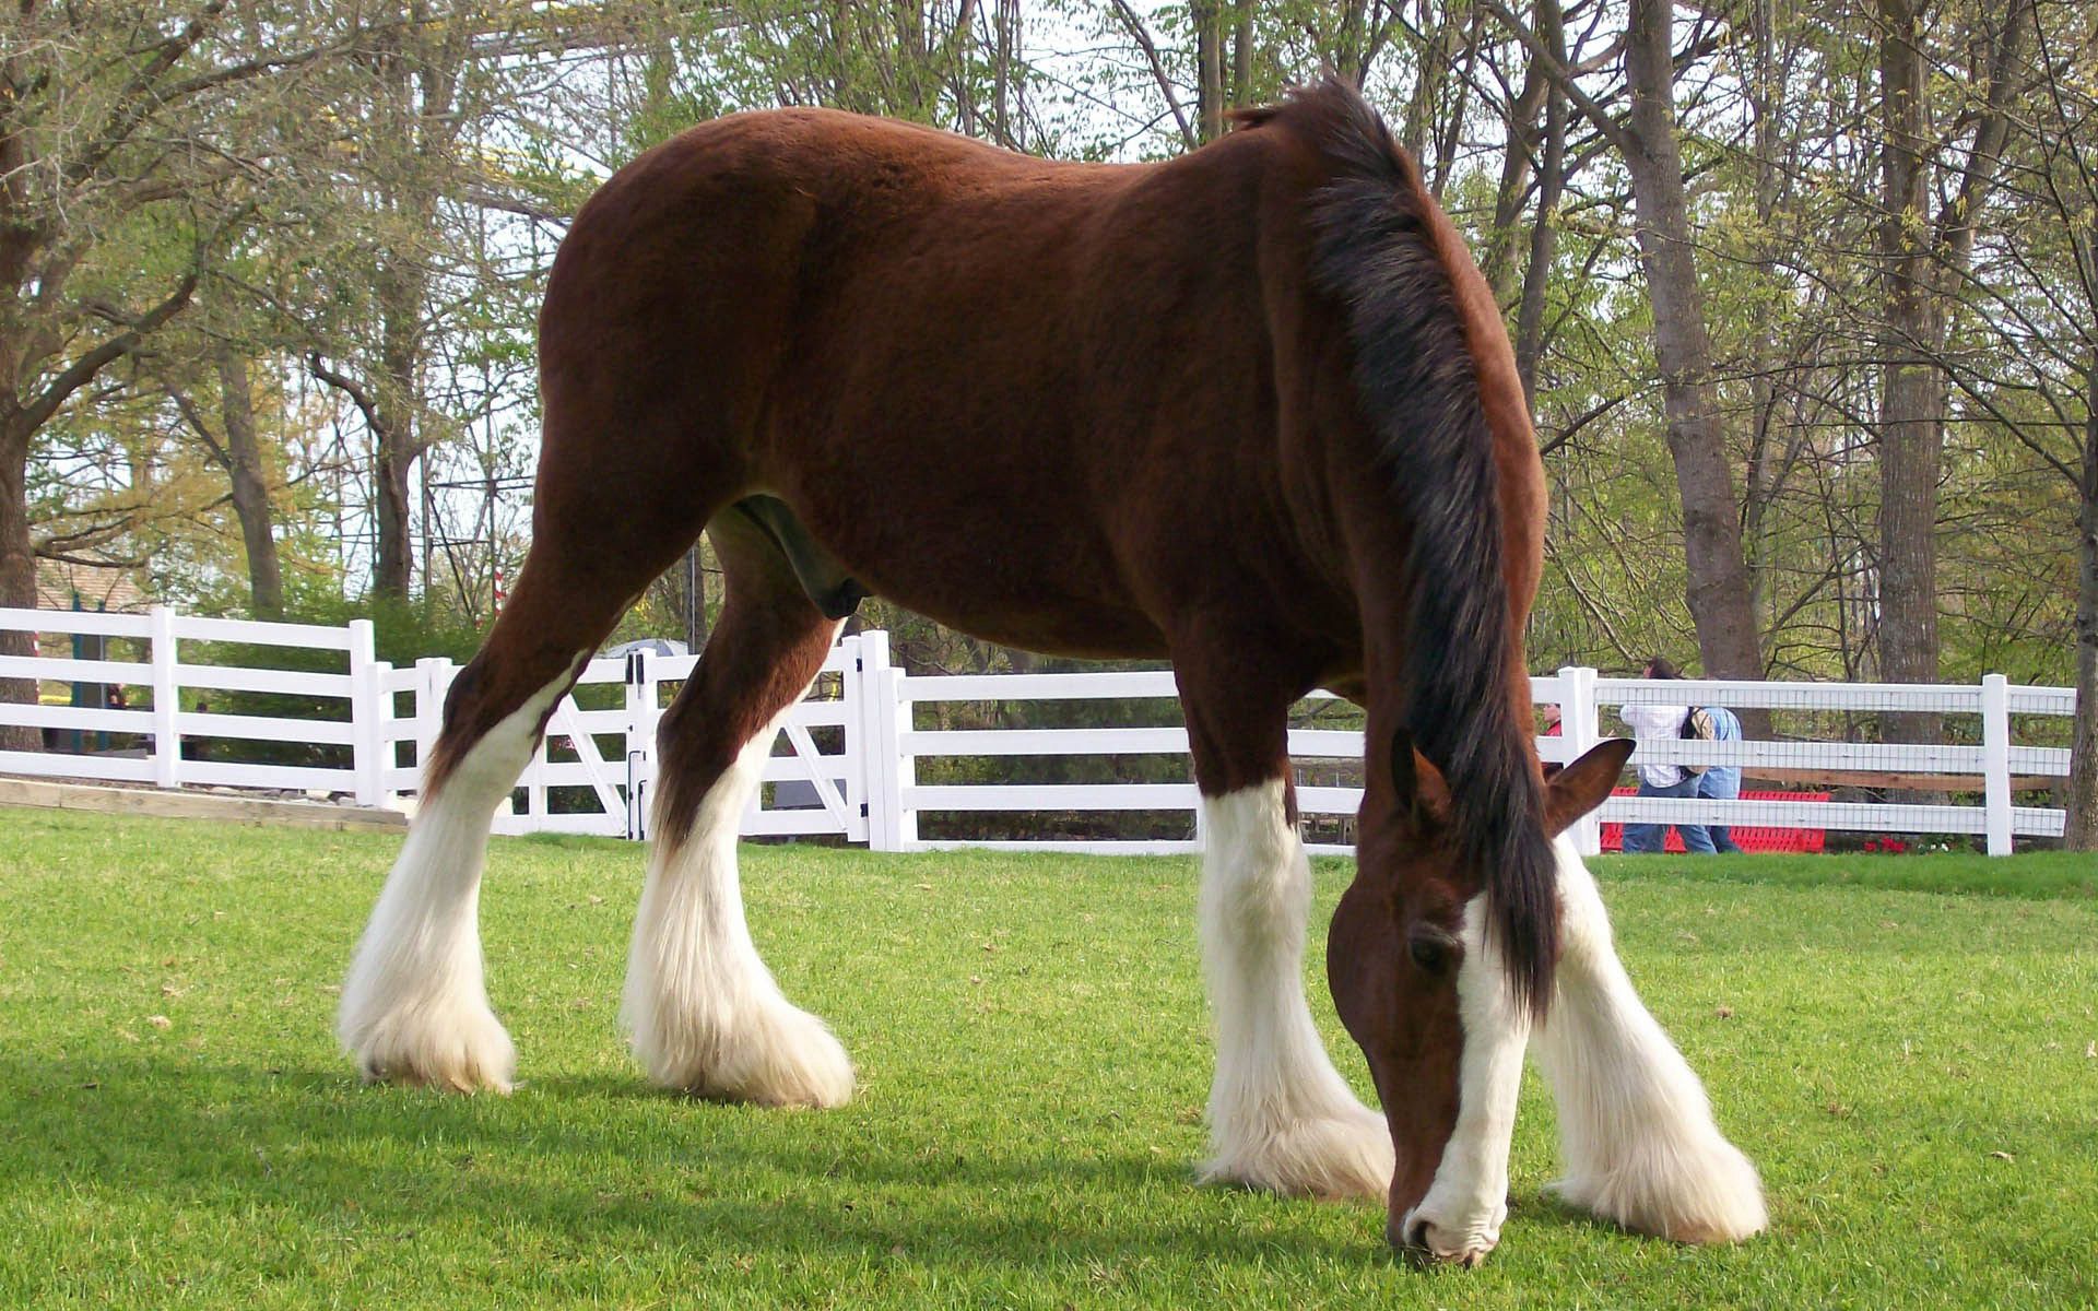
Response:
[{"label": "white feathered lower part of the horse's leftmost hind leg", "polygon": [[474,743],[409,824],[336,1017],[336,1036],[365,1078],[510,1091],[516,1051],[480,982],[480,866],[495,805],[566,686],[564,673]]}]

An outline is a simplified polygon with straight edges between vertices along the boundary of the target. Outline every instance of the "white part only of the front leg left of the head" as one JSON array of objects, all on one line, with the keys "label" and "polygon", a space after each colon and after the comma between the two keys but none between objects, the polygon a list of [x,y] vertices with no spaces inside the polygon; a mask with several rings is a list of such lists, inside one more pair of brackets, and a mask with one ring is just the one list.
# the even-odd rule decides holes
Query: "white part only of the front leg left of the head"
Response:
[{"label": "white part only of the front leg left of the head", "polygon": [[1282,780],[1204,797],[1200,931],[1217,1015],[1204,1181],[1383,1198],[1391,1131],[1332,1068],[1303,992],[1311,864]]}]

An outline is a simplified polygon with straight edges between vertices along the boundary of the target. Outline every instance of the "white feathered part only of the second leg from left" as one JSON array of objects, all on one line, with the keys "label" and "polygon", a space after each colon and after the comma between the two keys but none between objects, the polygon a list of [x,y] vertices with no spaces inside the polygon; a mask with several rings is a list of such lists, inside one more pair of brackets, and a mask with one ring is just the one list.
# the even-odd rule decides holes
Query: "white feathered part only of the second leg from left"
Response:
[{"label": "white feathered part only of the second leg from left", "polygon": [[[768,724],[707,789],[682,843],[655,843],[621,1015],[636,1059],[665,1089],[843,1105],[852,1059],[822,1019],[780,994],[743,919],[736,831],[776,732],[778,722]],[[657,814],[659,829],[665,818]]]}]

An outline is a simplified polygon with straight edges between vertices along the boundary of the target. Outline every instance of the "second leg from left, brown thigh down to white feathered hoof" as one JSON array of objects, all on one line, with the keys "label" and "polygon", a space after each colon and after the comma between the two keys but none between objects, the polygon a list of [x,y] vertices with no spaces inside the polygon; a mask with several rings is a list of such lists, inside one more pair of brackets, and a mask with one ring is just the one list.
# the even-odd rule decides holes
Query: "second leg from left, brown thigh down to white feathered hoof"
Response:
[{"label": "second leg from left, brown thigh down to white feathered hoof", "polygon": [[728,600],[663,717],[655,850],[634,921],[623,1017],[648,1076],[703,1097],[841,1105],[852,1061],[757,957],[736,881],[736,829],[774,730],[814,682],[837,621],[734,514],[709,526]]}]

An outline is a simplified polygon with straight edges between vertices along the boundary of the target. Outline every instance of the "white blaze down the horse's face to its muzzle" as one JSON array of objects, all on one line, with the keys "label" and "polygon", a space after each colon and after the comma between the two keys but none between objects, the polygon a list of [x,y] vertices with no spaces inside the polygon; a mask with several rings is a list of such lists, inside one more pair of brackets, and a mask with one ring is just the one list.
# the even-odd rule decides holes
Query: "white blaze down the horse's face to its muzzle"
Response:
[{"label": "white blaze down the horse's face to its muzzle", "polygon": [[1523,1089],[1523,1047],[1529,1017],[1508,1001],[1500,952],[1485,940],[1485,898],[1464,906],[1464,959],[1456,971],[1458,1059],[1456,1126],[1443,1145],[1435,1181],[1399,1221],[1410,1240],[1425,1225],[1422,1246],[1437,1261],[1477,1265],[1500,1242],[1508,1219],[1508,1141]]}]

